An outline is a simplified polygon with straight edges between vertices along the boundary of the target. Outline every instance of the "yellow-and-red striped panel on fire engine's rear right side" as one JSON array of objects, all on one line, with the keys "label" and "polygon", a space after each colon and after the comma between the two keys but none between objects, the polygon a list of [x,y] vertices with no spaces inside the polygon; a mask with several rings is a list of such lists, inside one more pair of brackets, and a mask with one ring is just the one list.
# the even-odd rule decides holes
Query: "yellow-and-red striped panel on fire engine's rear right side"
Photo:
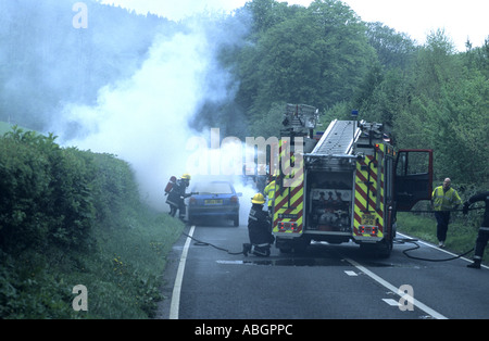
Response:
[{"label": "yellow-and-red striped panel on fire engine's rear right side", "polygon": [[377,146],[376,154],[375,160],[374,155],[366,155],[356,163],[354,237],[384,238],[384,144]]}]

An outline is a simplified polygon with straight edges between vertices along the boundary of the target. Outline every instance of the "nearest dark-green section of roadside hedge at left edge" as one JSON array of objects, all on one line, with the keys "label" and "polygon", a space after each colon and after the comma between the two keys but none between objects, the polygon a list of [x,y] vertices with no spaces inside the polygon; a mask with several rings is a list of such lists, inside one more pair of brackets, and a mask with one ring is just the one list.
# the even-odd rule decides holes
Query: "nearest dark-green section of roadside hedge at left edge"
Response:
[{"label": "nearest dark-green section of roadside hedge at left edge", "polygon": [[0,248],[84,248],[93,222],[95,167],[54,137],[14,128],[0,142]]}]

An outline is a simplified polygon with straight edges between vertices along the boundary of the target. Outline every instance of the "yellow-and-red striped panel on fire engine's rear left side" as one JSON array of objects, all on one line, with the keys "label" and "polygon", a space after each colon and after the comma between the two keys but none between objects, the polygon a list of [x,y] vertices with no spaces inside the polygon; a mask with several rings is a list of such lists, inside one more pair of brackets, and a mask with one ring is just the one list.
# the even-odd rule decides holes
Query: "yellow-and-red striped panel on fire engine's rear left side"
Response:
[{"label": "yellow-and-red striped panel on fire engine's rear left side", "polygon": [[[290,156],[290,149],[285,140],[279,142],[279,161],[281,172],[276,180],[275,198],[274,198],[274,233],[302,233],[303,226],[303,209],[304,209],[304,162],[301,159],[300,167],[292,167],[291,161],[294,156]],[[294,171],[292,171],[294,168]],[[286,187],[287,180],[293,181]]]}]

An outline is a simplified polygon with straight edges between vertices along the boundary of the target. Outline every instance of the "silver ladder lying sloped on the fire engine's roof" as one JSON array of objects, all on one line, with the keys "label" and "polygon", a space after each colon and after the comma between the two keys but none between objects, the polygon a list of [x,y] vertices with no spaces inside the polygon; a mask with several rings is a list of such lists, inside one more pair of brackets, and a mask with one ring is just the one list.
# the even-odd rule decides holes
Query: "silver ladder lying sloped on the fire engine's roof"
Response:
[{"label": "silver ladder lying sloped on the fire engine's roof", "polygon": [[[361,122],[360,124],[363,124]],[[353,154],[353,144],[361,134],[355,121],[333,121],[308,156],[344,156]]]}]

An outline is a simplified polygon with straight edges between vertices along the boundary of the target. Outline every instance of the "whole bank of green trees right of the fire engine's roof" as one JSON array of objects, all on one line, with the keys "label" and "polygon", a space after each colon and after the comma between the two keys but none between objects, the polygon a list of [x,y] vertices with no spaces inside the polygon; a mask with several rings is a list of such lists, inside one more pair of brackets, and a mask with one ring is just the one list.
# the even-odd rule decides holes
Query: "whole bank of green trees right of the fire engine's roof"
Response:
[{"label": "whole bank of green trees right of the fire engine's roof", "polygon": [[399,148],[434,149],[437,179],[487,186],[489,78],[478,67],[485,49],[455,54],[437,30],[404,70],[372,68],[352,106],[392,126]]}]

